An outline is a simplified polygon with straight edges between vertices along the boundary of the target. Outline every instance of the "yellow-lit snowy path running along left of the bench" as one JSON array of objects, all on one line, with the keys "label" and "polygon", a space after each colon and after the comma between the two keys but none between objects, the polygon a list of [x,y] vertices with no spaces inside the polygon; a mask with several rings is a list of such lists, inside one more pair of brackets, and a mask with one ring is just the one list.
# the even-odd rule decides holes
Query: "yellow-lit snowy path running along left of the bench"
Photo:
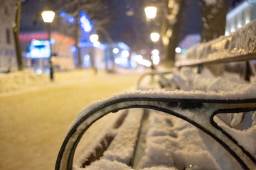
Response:
[{"label": "yellow-lit snowy path running along left of the bench", "polygon": [[[54,169],[58,150],[78,111],[129,89],[138,78],[136,74],[103,72],[97,76],[85,72],[83,79],[58,79],[57,75],[54,84],[0,96],[0,169]],[[100,130],[111,116],[103,118],[87,135],[93,137],[92,132]]]}]

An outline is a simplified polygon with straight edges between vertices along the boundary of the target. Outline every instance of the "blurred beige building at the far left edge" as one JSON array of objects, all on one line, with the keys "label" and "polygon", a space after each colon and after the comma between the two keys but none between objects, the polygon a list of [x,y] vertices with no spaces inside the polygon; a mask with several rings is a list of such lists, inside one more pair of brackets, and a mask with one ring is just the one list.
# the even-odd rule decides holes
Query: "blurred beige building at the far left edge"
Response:
[{"label": "blurred beige building at the far left edge", "polygon": [[0,72],[17,67],[12,23],[14,0],[2,0],[0,4]]}]

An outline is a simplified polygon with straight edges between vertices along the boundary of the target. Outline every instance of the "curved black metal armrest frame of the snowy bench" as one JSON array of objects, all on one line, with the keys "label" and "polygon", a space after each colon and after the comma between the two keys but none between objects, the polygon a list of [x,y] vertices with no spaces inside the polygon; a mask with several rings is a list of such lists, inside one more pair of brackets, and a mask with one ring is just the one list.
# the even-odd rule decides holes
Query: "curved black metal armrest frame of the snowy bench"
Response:
[{"label": "curved black metal armrest frame of the snowy bench", "polygon": [[[82,135],[90,125],[108,113],[115,113],[127,108],[149,108],[169,113],[195,125],[222,145],[242,166],[243,169],[255,169],[256,159],[244,147],[225,132],[213,120],[218,113],[239,113],[256,111],[256,98],[244,100],[208,100],[187,98],[145,98],[122,96],[122,98],[105,101],[97,108],[87,111],[68,132],[55,164],[55,170],[70,170],[73,167],[75,149]],[[189,112],[186,114],[184,111]],[[203,117],[202,113],[204,111]]]}]

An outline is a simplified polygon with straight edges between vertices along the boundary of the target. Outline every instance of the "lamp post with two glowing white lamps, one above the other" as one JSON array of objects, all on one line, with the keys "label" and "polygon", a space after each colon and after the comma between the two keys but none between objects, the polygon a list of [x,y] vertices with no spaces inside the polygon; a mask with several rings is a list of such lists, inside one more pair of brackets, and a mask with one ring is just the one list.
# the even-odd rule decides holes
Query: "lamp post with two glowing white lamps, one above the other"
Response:
[{"label": "lamp post with two glowing white lamps, one above the other", "polygon": [[[144,8],[145,14],[146,14],[146,18],[149,20],[149,27],[150,30],[152,31],[153,29],[153,23],[152,20],[156,17],[156,12],[157,12],[157,8],[156,6],[146,6],[146,8]],[[151,33],[150,34],[150,39],[153,42],[157,42],[159,40],[159,34],[158,33]],[[151,44],[150,47],[150,54],[151,54],[151,50],[153,50],[153,45]],[[151,69],[154,69],[154,63],[151,59]],[[152,77],[153,79],[153,77]]]}]

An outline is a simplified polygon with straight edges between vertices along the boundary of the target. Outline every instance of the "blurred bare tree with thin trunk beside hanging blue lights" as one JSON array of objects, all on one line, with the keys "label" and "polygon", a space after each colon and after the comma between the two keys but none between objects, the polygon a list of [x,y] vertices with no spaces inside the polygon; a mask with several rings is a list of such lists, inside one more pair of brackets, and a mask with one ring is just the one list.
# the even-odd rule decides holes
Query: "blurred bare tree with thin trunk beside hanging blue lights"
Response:
[{"label": "blurred bare tree with thin trunk beside hanging blue lights", "polygon": [[[53,0],[52,0],[53,1]],[[107,31],[107,26],[110,23],[110,15],[107,5],[103,0],[63,0],[53,1],[57,12],[65,11],[68,15],[75,18],[73,24],[75,47],[77,48],[78,55],[78,68],[82,68],[82,57],[80,52],[80,12],[85,11],[94,21],[94,29],[99,31],[107,42],[112,42],[110,35]],[[101,36],[100,36],[101,38]]]}]

